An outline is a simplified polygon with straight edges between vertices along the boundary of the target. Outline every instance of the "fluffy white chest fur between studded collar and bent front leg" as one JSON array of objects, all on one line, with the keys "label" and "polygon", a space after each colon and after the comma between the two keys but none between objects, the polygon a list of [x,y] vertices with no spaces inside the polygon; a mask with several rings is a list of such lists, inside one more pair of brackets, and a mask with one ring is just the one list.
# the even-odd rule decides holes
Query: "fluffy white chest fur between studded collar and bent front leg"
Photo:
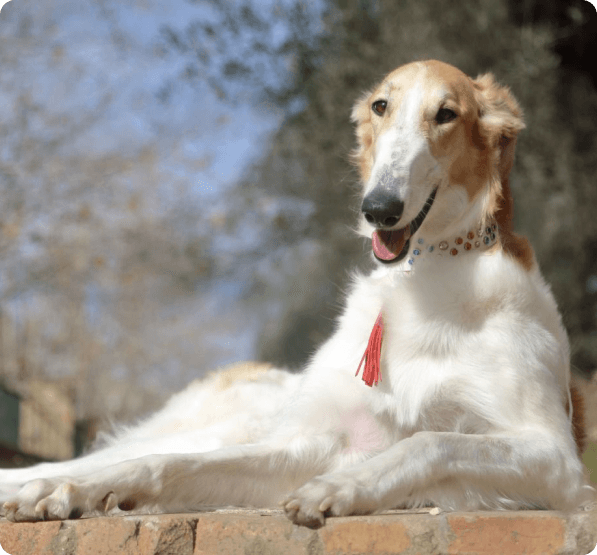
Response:
[{"label": "fluffy white chest fur between studded collar and bent front leg", "polygon": [[479,433],[512,419],[547,417],[545,393],[533,395],[533,384],[552,382],[550,402],[560,402],[568,343],[538,271],[524,271],[499,250],[420,260],[412,272],[406,267],[359,278],[330,341],[336,355],[346,354],[349,368],[338,371],[352,374],[383,311],[382,382],[369,390],[356,379],[372,410],[391,418],[400,435]]}]

